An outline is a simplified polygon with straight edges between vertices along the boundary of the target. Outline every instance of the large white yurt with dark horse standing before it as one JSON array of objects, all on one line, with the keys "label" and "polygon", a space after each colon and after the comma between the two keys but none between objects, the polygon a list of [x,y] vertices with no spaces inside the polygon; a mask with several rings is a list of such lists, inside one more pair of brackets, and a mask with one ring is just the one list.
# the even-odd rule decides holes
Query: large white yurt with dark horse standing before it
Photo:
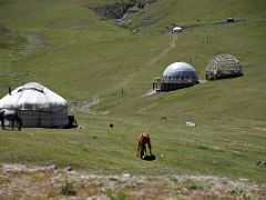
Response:
[{"label": "large white yurt with dark horse standing before it", "polygon": [[22,127],[55,128],[69,123],[68,102],[37,82],[18,87],[0,99],[0,109],[18,111]]}]

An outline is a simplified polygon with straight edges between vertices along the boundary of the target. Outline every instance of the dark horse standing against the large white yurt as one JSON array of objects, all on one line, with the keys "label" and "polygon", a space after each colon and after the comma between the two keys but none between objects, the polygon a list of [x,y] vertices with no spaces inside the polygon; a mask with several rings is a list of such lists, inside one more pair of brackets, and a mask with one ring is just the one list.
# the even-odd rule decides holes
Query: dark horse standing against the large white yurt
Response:
[{"label": "dark horse standing against the large white yurt", "polygon": [[0,121],[1,121],[1,124],[2,124],[2,129],[6,129],[4,128],[4,119],[8,120],[8,121],[12,121],[12,130],[13,130],[13,127],[14,127],[14,121],[17,122],[18,130],[21,130],[22,120],[19,117],[17,111],[8,110],[8,109],[0,110]]}]

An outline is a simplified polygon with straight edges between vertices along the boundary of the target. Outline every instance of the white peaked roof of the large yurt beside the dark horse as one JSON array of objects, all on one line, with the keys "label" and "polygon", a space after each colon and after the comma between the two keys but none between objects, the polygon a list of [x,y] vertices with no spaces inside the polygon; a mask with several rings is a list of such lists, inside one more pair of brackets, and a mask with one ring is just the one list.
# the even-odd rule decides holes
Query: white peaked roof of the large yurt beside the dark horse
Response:
[{"label": "white peaked roof of the large yurt beside the dark horse", "polygon": [[68,108],[68,102],[38,82],[16,88],[0,100],[0,109],[57,112]]}]

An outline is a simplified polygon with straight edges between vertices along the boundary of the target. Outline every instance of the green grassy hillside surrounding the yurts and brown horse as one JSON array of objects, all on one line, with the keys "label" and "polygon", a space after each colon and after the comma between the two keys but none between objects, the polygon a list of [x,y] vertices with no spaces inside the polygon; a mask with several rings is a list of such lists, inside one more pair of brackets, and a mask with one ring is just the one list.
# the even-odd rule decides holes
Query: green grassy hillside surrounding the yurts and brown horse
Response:
[{"label": "green grassy hillside surrounding the yurts and brown horse", "polygon": [[[255,164],[266,159],[266,2],[161,0],[123,26],[92,9],[106,2],[0,0],[1,97],[37,81],[69,102],[100,98],[93,113],[71,112],[83,129],[1,130],[0,162],[266,182],[265,168]],[[227,17],[243,21],[216,24]],[[172,23],[191,28],[174,41]],[[143,96],[175,61],[190,62],[203,80],[217,53],[239,59],[244,77]],[[197,127],[185,127],[187,120]],[[140,131],[151,133],[156,161],[135,157]]]}]

